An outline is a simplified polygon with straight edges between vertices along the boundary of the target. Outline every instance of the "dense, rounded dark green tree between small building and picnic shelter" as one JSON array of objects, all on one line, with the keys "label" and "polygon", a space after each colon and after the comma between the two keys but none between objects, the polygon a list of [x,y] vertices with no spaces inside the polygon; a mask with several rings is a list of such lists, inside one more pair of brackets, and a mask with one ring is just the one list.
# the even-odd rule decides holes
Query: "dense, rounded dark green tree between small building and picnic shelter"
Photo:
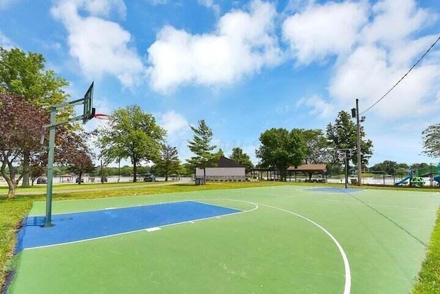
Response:
[{"label": "dense, rounded dark green tree between small building and picnic shelter", "polygon": [[261,166],[276,168],[281,180],[286,179],[287,167],[298,167],[305,158],[307,146],[300,129],[268,129],[260,135],[260,142],[256,156]]}]

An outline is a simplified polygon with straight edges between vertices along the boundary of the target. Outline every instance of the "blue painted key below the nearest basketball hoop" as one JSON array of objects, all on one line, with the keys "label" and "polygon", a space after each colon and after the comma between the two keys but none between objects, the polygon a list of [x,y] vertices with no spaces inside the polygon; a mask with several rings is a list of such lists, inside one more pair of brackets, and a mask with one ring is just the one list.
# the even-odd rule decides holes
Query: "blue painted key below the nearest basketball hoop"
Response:
[{"label": "blue painted key below the nearest basketball hoop", "polygon": [[237,212],[240,210],[195,201],[171,202],[57,214],[52,216],[54,227],[49,228],[41,227],[45,222],[44,216],[30,216],[25,219],[23,229],[17,234],[16,252]]}]

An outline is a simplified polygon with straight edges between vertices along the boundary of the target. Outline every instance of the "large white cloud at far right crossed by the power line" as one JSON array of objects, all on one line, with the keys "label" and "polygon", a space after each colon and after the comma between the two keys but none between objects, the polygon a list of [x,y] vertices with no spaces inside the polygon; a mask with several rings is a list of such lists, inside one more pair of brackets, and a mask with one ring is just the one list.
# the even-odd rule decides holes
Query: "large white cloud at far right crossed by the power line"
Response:
[{"label": "large white cloud at far right crossed by the power line", "polygon": [[[330,94],[340,103],[353,103],[355,98],[360,98],[361,111],[373,105],[437,38],[412,36],[429,19],[435,19],[435,15],[417,8],[412,0],[395,4],[392,0],[377,3],[372,9],[371,23],[360,30],[362,42],[351,54],[340,56],[329,86]],[[373,112],[395,120],[440,109],[434,103],[435,93],[440,89],[440,59],[434,52],[430,53],[430,57],[375,105]]]}]

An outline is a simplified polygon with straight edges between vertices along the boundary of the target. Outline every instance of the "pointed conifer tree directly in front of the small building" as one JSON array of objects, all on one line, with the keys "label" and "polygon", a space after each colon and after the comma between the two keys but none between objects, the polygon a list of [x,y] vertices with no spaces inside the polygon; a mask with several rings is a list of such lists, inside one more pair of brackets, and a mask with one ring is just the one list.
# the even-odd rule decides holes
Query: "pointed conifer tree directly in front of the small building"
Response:
[{"label": "pointed conifer tree directly in front of the small building", "polygon": [[217,148],[216,145],[210,145],[212,140],[212,130],[206,125],[205,120],[199,120],[199,126],[193,127],[190,125],[194,136],[192,141],[188,141],[188,148],[196,156],[191,157],[190,162],[194,167],[203,169],[203,183],[206,180],[206,167],[213,165],[214,159],[218,158],[219,154],[212,153],[212,150]]}]

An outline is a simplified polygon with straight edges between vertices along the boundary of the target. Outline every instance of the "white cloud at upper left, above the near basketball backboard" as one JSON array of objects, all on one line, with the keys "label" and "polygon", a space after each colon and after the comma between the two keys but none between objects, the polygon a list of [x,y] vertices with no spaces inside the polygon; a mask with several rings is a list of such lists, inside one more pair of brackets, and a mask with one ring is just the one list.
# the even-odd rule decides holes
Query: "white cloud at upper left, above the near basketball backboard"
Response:
[{"label": "white cloud at upper left, above the near basketball backboard", "polygon": [[122,11],[122,4],[112,0],[64,0],[52,8],[52,14],[67,28],[69,52],[78,60],[84,74],[89,78],[111,74],[130,87],[144,72],[140,56],[129,45],[131,34],[118,23],[95,16],[81,17],[78,12],[84,8],[91,15],[103,15],[113,9]]}]

